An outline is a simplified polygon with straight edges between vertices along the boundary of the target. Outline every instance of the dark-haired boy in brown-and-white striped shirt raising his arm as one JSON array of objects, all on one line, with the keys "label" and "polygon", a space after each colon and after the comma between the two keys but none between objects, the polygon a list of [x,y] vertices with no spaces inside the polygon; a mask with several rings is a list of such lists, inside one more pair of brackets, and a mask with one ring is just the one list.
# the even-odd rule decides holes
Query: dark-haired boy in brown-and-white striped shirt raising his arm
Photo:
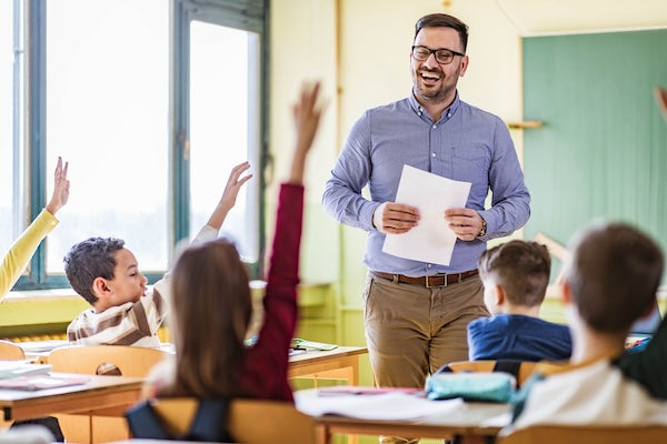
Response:
[{"label": "dark-haired boy in brown-and-white striped shirt raising his arm", "polygon": [[[252,176],[241,178],[249,168],[243,162],[231,170],[222,198],[192,243],[218,236],[240,188]],[[157,332],[168,311],[168,274],[148,291],[135,255],[123,245],[120,239],[90,238],[66,255],[67,279],[92,305],[67,327],[70,344],[160,347]]]}]

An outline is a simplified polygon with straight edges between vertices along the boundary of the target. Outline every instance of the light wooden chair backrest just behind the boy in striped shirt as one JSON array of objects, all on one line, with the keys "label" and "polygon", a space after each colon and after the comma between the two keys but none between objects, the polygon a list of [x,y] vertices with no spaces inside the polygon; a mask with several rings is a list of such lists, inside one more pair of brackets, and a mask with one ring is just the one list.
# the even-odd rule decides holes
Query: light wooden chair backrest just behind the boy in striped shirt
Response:
[{"label": "light wooden chair backrest just behind the boy in striped shirt", "polygon": [[53,372],[143,377],[167,354],[130,345],[68,345],[52,350],[49,364]]}]

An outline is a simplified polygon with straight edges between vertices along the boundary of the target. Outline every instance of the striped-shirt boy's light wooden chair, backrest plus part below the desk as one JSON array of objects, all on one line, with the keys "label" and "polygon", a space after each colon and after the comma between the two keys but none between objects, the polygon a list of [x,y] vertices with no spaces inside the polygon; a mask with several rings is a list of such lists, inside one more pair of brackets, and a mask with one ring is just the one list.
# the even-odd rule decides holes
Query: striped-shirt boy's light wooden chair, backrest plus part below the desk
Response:
[{"label": "striped-shirt boy's light wooden chair, backrest plus part below the desk", "polygon": [[[167,352],[129,345],[68,345],[49,353],[53,372],[145,377]],[[56,415],[68,442],[106,443],[127,440],[122,411],[101,415]]]}]

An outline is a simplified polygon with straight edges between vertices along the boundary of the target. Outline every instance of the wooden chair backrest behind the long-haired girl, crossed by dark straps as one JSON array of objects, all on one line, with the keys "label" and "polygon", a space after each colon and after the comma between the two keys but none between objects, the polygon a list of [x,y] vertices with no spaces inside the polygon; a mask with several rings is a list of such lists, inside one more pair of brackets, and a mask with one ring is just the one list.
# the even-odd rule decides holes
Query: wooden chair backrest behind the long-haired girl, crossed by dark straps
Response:
[{"label": "wooden chair backrest behind the long-haired girl, crossed by dark straps", "polygon": [[[189,431],[197,406],[198,400],[192,397],[161,398],[153,403],[158,416],[173,435]],[[312,418],[281,401],[232,400],[228,431],[237,442],[247,444],[315,443]]]}]

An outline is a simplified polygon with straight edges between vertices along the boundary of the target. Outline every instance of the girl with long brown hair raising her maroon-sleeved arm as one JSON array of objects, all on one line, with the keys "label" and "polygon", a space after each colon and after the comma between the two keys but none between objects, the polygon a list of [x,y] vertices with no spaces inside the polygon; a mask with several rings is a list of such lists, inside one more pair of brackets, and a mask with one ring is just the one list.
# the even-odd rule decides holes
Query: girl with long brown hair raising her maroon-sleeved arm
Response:
[{"label": "girl with long brown hair raising her maroon-sleeved arm", "polygon": [[293,109],[297,143],[289,180],[280,186],[265,321],[256,344],[243,344],[251,300],[235,246],[225,240],[192,246],[173,266],[176,357],[153,371],[149,395],[292,400],[288,351],[298,314],[303,167],[322,112],[318,95],[319,83],[305,84]]}]

